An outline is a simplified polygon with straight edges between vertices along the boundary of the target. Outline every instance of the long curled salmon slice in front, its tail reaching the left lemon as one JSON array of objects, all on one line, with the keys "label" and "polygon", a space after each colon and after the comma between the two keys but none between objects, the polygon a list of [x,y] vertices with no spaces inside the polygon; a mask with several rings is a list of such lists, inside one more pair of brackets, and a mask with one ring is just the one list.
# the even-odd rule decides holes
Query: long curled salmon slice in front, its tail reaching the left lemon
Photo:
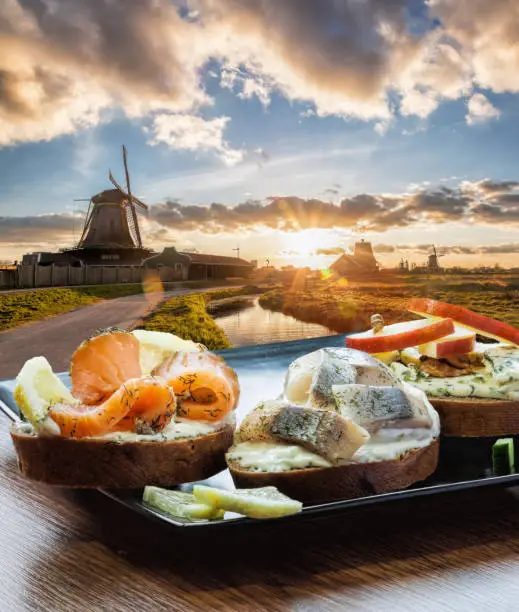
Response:
[{"label": "long curled salmon slice in front, its tail reaching the left lemon", "polygon": [[49,414],[62,436],[83,438],[114,430],[160,431],[171,421],[174,410],[175,396],[166,381],[149,376],[127,380],[97,406],[58,403]]}]

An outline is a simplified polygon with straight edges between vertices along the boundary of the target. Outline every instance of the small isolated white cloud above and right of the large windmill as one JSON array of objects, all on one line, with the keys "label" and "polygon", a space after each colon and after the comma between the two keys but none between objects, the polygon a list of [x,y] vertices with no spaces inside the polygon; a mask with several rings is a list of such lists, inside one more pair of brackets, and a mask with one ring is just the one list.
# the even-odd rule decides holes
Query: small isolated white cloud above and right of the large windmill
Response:
[{"label": "small isolated white cloud above and right of the large windmill", "polygon": [[194,115],[156,115],[151,127],[150,144],[165,143],[174,149],[216,151],[227,166],[242,161],[244,151],[233,149],[223,132],[229,117],[202,119]]}]

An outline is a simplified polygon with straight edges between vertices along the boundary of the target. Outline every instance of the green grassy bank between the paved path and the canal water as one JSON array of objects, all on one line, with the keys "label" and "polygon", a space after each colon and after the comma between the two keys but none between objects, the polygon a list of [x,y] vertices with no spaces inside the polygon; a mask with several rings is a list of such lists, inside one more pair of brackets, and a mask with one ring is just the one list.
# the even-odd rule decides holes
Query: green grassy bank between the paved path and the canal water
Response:
[{"label": "green grassy bank between the paved path and the canal water", "polygon": [[139,327],[169,332],[185,340],[200,342],[212,350],[229,348],[227,336],[208,313],[210,304],[257,293],[261,293],[259,287],[248,286],[179,295],[166,300]]}]

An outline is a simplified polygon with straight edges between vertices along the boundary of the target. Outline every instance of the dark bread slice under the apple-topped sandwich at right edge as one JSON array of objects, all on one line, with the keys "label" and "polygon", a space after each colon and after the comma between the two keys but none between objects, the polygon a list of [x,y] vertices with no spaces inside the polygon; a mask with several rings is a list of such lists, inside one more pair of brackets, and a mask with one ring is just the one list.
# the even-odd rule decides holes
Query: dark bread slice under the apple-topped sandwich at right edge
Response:
[{"label": "dark bread slice under the apple-topped sandwich at right edge", "polygon": [[519,401],[479,397],[429,397],[440,415],[442,436],[519,434]]}]

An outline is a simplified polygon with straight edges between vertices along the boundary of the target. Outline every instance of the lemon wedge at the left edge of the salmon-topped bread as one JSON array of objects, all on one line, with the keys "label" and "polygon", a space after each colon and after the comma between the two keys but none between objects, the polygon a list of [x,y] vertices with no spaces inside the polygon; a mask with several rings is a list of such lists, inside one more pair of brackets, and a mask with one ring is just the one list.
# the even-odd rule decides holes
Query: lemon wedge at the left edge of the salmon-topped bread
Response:
[{"label": "lemon wedge at the left edge of the salmon-topped bread", "polygon": [[[49,429],[59,434],[59,428],[47,418],[53,403],[77,403],[70,391],[54,374],[45,357],[33,357],[25,362],[16,377],[14,399],[23,416],[36,430]],[[54,431],[55,430],[55,431]]]}]

